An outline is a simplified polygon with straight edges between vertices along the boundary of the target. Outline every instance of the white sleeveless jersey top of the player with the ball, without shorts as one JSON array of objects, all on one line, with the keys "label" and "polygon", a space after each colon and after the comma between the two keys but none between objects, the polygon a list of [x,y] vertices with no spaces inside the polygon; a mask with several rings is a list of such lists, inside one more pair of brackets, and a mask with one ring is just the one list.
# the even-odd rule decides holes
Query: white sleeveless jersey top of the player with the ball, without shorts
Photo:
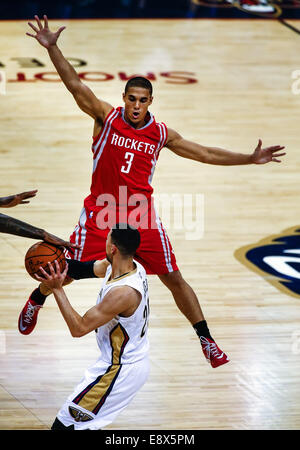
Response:
[{"label": "white sleeveless jersey top of the player with the ball, without shorts", "polygon": [[118,315],[96,330],[101,359],[112,365],[135,363],[148,354],[148,283],[143,266],[135,260],[134,264],[134,270],[113,280],[110,280],[112,267],[108,266],[97,298],[99,304],[111,289],[120,286],[130,286],[142,296],[130,317]]}]

